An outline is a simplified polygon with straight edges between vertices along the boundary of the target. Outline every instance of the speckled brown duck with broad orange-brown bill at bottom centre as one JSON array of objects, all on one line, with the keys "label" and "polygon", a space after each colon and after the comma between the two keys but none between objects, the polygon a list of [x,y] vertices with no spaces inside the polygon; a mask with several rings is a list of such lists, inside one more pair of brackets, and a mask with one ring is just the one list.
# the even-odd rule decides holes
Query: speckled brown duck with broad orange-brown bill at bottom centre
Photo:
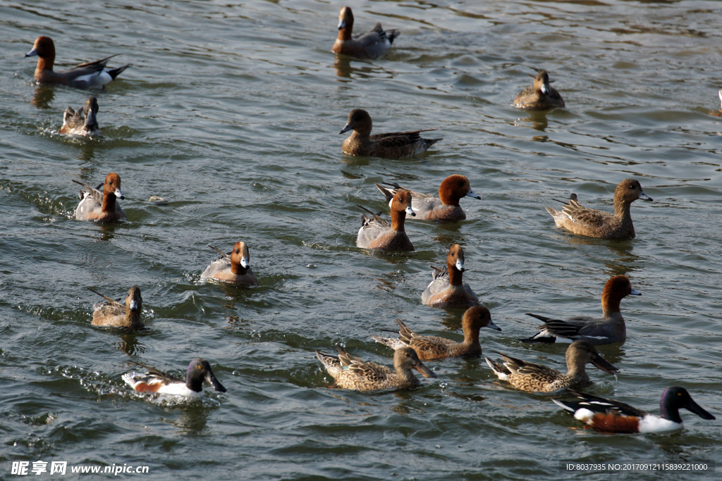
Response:
[{"label": "speckled brown duck with broad orange-brown bill at bottom centre", "polygon": [[321,361],[326,371],[336,380],[334,387],[357,391],[418,387],[421,382],[414,376],[412,369],[416,369],[424,377],[436,377],[434,371],[424,366],[416,352],[407,346],[393,351],[393,371],[381,364],[351,356],[340,345],[336,348],[339,350],[339,357],[316,351],[318,361]]}]

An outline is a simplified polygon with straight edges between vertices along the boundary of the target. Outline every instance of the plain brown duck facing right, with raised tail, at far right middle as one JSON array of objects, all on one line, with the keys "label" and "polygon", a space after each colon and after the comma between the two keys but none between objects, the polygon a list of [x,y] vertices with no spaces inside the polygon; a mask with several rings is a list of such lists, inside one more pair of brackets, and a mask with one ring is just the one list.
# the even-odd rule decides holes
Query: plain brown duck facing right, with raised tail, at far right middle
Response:
[{"label": "plain brown duck facing right, with raised tail, at far right middle", "polygon": [[638,180],[625,179],[614,189],[614,214],[583,207],[578,203],[576,195],[570,197],[561,211],[545,208],[554,218],[557,227],[563,227],[574,234],[598,239],[625,240],[634,239],[636,235],[630,206],[637,199],[652,200],[643,193]]}]

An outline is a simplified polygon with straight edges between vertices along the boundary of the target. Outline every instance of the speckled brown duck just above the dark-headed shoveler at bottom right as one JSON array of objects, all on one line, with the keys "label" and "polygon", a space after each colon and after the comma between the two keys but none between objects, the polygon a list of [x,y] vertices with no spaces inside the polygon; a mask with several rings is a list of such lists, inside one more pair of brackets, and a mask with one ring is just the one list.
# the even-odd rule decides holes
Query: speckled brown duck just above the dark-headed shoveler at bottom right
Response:
[{"label": "speckled brown duck just above the dark-headed shoveler at bottom right", "polygon": [[503,364],[484,357],[494,374],[503,381],[508,381],[516,389],[526,392],[544,392],[554,394],[564,389],[582,389],[593,383],[586,373],[585,366],[592,363],[609,374],[619,371],[617,367],[599,356],[596,349],[584,340],[575,340],[567,348],[567,373],[541,364],[529,363],[521,359],[498,353]]}]

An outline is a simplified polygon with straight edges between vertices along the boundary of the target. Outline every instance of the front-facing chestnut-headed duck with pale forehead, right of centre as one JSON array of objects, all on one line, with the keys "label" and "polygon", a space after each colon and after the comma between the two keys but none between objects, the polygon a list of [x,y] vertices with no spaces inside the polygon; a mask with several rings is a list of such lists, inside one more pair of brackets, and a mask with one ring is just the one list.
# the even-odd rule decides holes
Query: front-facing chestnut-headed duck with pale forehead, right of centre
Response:
[{"label": "front-facing chestnut-headed duck with pale forehead, right of centre", "polygon": [[433,281],[421,295],[421,301],[427,306],[437,307],[469,307],[479,306],[479,298],[471,290],[469,284],[462,281],[464,272],[464,249],[453,244],[446,256],[446,268],[440,269],[433,265]]}]

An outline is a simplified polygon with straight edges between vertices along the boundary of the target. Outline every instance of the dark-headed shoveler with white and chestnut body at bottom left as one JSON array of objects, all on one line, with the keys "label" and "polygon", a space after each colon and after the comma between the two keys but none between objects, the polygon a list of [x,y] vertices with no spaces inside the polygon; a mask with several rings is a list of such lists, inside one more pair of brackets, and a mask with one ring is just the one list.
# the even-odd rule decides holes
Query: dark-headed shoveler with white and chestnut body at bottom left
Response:
[{"label": "dark-headed shoveler with white and chestnut body at bottom left", "polygon": [[211,365],[205,359],[195,358],[188,365],[186,379],[173,376],[172,374],[158,371],[145,364],[131,361],[138,366],[147,369],[145,373],[131,371],[123,374],[123,381],[138,392],[155,392],[157,394],[173,394],[184,397],[201,397],[203,394],[203,382],[210,384],[215,391],[226,392],[216,376],[214,376]]}]

